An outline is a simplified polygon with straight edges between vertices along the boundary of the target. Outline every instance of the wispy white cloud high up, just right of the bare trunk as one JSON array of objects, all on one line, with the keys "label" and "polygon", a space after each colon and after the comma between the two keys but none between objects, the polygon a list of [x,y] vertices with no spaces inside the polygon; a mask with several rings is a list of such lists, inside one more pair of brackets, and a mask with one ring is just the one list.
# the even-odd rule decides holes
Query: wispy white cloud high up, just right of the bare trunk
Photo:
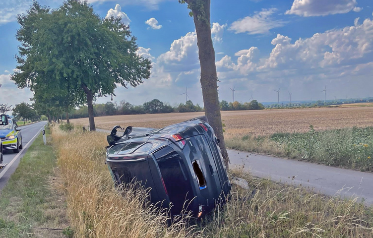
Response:
[{"label": "wispy white cloud high up, just right of the bare trunk", "polygon": [[262,9],[253,16],[247,16],[232,23],[229,30],[237,33],[247,32],[250,35],[269,33],[270,29],[281,27],[285,24],[282,20],[274,20],[271,15],[276,8]]}]

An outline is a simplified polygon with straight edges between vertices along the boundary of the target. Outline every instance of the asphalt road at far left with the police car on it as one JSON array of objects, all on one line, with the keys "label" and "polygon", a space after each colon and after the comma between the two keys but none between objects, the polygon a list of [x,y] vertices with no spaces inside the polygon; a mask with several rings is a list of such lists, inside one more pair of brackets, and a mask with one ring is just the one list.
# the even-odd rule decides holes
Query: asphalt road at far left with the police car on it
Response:
[{"label": "asphalt road at far left with the police car on it", "polygon": [[13,153],[12,150],[4,151],[3,163],[7,163],[8,165],[5,168],[0,169],[0,191],[6,185],[10,176],[17,169],[19,161],[46,123],[46,121],[40,121],[30,125],[21,126],[23,149],[19,151],[19,153]]}]

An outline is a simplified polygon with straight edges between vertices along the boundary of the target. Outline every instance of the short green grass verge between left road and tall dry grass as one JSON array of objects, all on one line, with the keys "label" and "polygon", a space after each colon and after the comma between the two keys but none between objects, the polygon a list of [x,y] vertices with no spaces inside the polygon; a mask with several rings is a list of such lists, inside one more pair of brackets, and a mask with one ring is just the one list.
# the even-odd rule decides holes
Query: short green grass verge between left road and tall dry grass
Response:
[{"label": "short green grass verge between left road and tall dry grass", "polygon": [[0,195],[0,237],[65,237],[68,227],[62,193],[54,189],[56,156],[39,135]]}]

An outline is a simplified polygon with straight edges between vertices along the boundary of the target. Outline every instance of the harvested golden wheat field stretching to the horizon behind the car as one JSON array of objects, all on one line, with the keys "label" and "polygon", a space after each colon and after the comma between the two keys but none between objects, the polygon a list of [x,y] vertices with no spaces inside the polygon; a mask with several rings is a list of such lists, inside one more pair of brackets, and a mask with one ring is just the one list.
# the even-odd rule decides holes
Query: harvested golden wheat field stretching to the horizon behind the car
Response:
[{"label": "harvested golden wheat field stretching to the horizon behind the car", "polygon": [[[202,116],[204,113],[171,113],[96,117],[96,127],[111,129],[114,125],[160,128],[169,124]],[[225,134],[269,135],[276,132],[305,132],[313,125],[316,130],[373,126],[373,107],[310,108],[261,111],[222,112]],[[88,119],[72,119],[72,123],[88,125]]]}]

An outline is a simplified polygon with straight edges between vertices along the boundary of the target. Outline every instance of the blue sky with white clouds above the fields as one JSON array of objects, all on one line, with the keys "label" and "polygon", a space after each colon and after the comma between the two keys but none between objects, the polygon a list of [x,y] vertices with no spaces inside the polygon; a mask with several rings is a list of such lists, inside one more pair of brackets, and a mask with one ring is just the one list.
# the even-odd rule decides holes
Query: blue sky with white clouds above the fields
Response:
[{"label": "blue sky with white clouds above the fields", "polygon": [[[40,0],[58,7],[60,0]],[[151,78],[116,89],[114,101],[142,104],[158,98],[185,101],[188,87],[202,104],[193,19],[178,0],[90,0],[102,17],[129,24],[138,54],[152,60]],[[227,3],[230,2],[230,3]],[[15,15],[31,0],[0,2],[0,103],[28,101],[32,93],[10,80],[18,42]],[[219,75],[219,99],[261,102],[373,97],[372,0],[212,0],[211,27]],[[99,98],[103,103],[110,98]]]}]

